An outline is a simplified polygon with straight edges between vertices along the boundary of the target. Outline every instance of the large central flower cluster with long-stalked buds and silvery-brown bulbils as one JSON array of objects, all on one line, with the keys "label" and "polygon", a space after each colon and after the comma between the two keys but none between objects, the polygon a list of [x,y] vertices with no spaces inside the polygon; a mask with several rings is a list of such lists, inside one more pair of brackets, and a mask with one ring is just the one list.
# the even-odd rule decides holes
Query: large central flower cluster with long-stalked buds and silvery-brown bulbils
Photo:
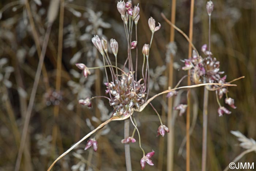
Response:
[{"label": "large central flower cluster with long-stalked buds and silvery-brown bulbils", "polygon": [[[130,117],[133,126],[135,127],[132,136],[125,137],[121,140],[121,143],[130,143],[136,142],[135,138],[133,138],[135,130],[137,130],[139,134],[139,130],[136,127],[135,118],[132,116],[133,111],[140,111],[141,106],[143,106],[148,99],[149,87],[150,87],[150,68],[148,64],[150,47],[153,39],[153,35],[155,31],[158,31],[161,28],[161,24],[159,26],[155,26],[155,20],[151,17],[148,19],[148,27],[152,32],[151,42],[150,44],[144,44],[142,47],[143,54],[143,65],[139,67],[142,69],[142,79],[138,79],[137,77],[137,69],[138,69],[138,53],[136,53],[136,67],[133,66],[132,53],[131,50],[135,49],[138,52],[138,40],[136,36],[136,40],[132,41],[132,27],[133,23],[136,27],[137,32],[137,23],[139,20],[139,5],[132,5],[131,1],[124,2],[120,1],[117,3],[118,12],[121,14],[121,19],[124,22],[125,35],[127,37],[128,43],[128,56],[127,60],[123,66],[125,68],[128,65],[128,72],[123,71],[117,65],[117,56],[118,56],[118,42],[115,39],[110,39],[108,42],[105,38],[100,38],[98,35],[94,35],[92,38],[93,45],[97,48],[99,53],[102,56],[103,66],[89,68],[82,63],[76,64],[76,66],[83,71],[84,77],[88,77],[90,75],[90,69],[96,68],[104,68],[106,73],[106,95],[107,96],[95,96],[92,98],[87,97],[86,99],[80,99],[79,103],[87,106],[89,108],[92,107],[91,100],[94,98],[106,98],[109,100],[110,106],[113,107],[112,117]],[[137,33],[136,33],[137,34]],[[116,64],[113,65],[110,61],[108,54],[108,46],[110,45],[110,49],[115,57]],[[111,77],[108,76],[108,71],[111,73]],[[152,73],[152,72],[151,72]],[[153,105],[151,104],[153,107]],[[155,108],[153,107],[155,110]],[[156,111],[156,110],[155,110]],[[156,111],[157,113],[157,111]],[[157,113],[158,114],[158,113]],[[158,114],[159,116],[159,114]],[[158,135],[164,136],[165,132],[170,132],[169,129],[162,124],[161,118],[159,117],[161,126],[158,129]],[[134,123],[135,122],[135,123]],[[139,136],[140,139],[140,136]],[[139,141],[140,144],[140,141]],[[92,138],[87,142],[86,149],[93,146],[94,151],[97,149],[97,141]],[[148,153],[145,156],[145,152],[141,147],[143,152],[143,157],[140,161],[142,169],[145,167],[145,163],[147,162],[150,165],[153,165],[153,162],[149,159],[154,155],[154,151]]]}]

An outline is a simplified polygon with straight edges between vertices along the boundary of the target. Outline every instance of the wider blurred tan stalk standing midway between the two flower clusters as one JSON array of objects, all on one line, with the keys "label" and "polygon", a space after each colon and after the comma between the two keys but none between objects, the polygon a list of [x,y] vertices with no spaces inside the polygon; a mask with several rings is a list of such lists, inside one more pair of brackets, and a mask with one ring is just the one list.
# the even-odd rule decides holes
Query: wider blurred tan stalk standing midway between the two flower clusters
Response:
[{"label": "wider blurred tan stalk standing midway between the two flower clusters", "polygon": [[[171,21],[175,24],[176,17],[176,0],[172,0]],[[170,42],[174,41],[174,27],[170,26]],[[170,56],[169,63],[169,81],[168,85],[173,87],[173,55]],[[168,99],[167,127],[170,133],[167,134],[167,171],[173,171],[174,156],[174,125],[172,124],[173,98]]]}]

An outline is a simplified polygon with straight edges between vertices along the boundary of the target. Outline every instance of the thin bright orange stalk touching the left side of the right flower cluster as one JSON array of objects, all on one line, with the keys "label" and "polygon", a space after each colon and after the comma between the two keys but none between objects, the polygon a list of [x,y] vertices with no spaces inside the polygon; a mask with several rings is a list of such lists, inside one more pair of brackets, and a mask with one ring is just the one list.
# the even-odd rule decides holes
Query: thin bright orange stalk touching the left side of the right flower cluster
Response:
[{"label": "thin bright orange stalk touching the left side of the right flower cluster", "polygon": [[[194,0],[191,0],[191,7],[190,7],[190,19],[189,19],[189,39],[193,40],[193,16],[194,16]],[[192,46],[191,44],[188,45],[188,58],[190,59],[192,55]],[[188,70],[188,86],[191,85],[190,79],[190,69]],[[190,89],[188,88],[187,93],[187,121],[186,121],[186,171],[190,171],[190,107],[191,107],[191,97],[190,97]]]}]

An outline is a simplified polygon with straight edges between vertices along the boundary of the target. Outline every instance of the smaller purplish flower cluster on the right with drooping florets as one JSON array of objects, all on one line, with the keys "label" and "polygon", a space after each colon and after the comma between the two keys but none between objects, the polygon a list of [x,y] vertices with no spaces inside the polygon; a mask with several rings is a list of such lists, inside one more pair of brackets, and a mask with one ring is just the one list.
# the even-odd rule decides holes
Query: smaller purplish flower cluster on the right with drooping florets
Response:
[{"label": "smaller purplish flower cluster on the right with drooping florets", "polygon": [[[200,83],[219,83],[219,84],[229,84],[226,82],[227,76],[221,76],[224,72],[219,71],[220,62],[216,58],[212,58],[212,53],[210,50],[207,50],[207,45],[203,45],[201,48],[205,58],[199,56],[199,54],[193,50],[192,57],[190,59],[185,59],[185,66],[182,67],[183,70],[190,69],[191,71],[191,80],[195,84]],[[234,99],[227,96],[227,86],[218,86],[211,85],[207,86],[207,89],[210,91],[216,91],[217,102],[219,104],[218,114],[222,116],[224,113],[231,114],[229,110],[221,106],[219,99],[223,97],[223,94],[226,94],[225,103],[228,104],[233,109],[236,109],[234,106]]]}]

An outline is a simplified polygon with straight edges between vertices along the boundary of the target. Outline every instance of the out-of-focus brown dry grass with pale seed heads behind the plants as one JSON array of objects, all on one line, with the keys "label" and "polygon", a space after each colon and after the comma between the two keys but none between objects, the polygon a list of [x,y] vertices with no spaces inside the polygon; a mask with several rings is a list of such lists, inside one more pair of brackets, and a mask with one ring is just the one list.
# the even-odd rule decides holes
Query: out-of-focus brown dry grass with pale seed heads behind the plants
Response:
[{"label": "out-of-focus brown dry grass with pale seed heads behind the plants", "polygon": [[[27,15],[25,0],[0,1],[0,171],[14,170],[19,150],[20,137],[25,121],[27,105],[33,87],[38,65],[38,53],[32,28]],[[206,0],[195,1],[193,43],[200,50],[208,42],[208,16]],[[244,149],[230,131],[239,130],[246,137],[256,139],[256,1],[255,0],[213,0],[211,51],[221,62],[227,81],[245,76],[235,82],[237,87],[229,88],[229,96],[235,99],[237,109],[232,114],[219,117],[215,93],[209,94],[207,170],[223,170]],[[171,14],[171,0],[133,0],[140,5],[138,23],[139,54],[144,43],[151,38],[147,19],[152,16],[162,24],[155,33],[150,68],[153,86],[150,95],[167,88],[168,53],[170,26],[161,17]],[[35,29],[42,46],[47,26],[49,0],[30,0]],[[102,65],[91,38],[94,34],[106,39],[114,38],[119,43],[118,62],[123,64],[126,52],[126,38],[123,21],[116,9],[116,0],[65,0],[62,72],[60,92],[55,91],[58,56],[59,16],[53,23],[46,50],[43,74],[35,96],[29,131],[20,170],[47,170],[61,153],[80,140],[91,129],[110,117],[111,108],[107,100],[93,101],[93,109],[78,104],[86,96],[105,93],[103,70],[91,71],[83,79],[75,67],[76,62],[87,66]],[[3,11],[4,9],[4,11]],[[186,34],[189,31],[190,0],[178,0],[176,26]],[[177,50],[174,56],[174,84],[187,72],[180,70],[180,61],[188,56],[188,42],[175,32]],[[170,48],[169,48],[170,50]],[[141,57],[142,55],[140,55]],[[139,66],[142,65],[142,57]],[[111,56],[114,61],[114,56]],[[46,75],[47,73],[47,75]],[[45,75],[44,75],[45,74]],[[140,73],[139,73],[140,74]],[[182,82],[185,86],[186,81]],[[186,103],[186,93],[178,96]],[[176,100],[174,99],[174,101]],[[200,170],[202,155],[202,106],[203,88],[192,91],[191,117],[195,128],[191,135],[191,170]],[[224,104],[224,99],[221,103]],[[175,103],[175,102],[174,102]],[[57,117],[54,106],[59,105]],[[166,122],[166,104],[162,97],[154,105]],[[198,113],[196,112],[198,110]],[[166,137],[156,137],[159,121],[150,107],[135,114],[146,151],[154,149],[153,167],[145,170],[166,170]],[[197,117],[197,118],[196,118]],[[174,170],[185,170],[185,148],[178,154],[185,136],[186,116],[177,117],[174,126]],[[53,133],[56,126],[57,134]],[[131,128],[132,131],[132,128]],[[99,149],[83,151],[86,141],[65,156],[54,166],[54,170],[125,170],[123,121],[112,122],[102,130],[98,138]],[[135,133],[135,138],[138,136]],[[133,170],[140,170],[142,153],[138,143],[131,144]],[[256,161],[255,153],[249,153],[242,162]]]}]

